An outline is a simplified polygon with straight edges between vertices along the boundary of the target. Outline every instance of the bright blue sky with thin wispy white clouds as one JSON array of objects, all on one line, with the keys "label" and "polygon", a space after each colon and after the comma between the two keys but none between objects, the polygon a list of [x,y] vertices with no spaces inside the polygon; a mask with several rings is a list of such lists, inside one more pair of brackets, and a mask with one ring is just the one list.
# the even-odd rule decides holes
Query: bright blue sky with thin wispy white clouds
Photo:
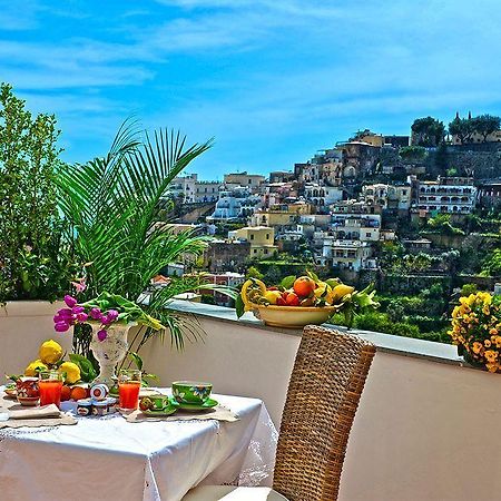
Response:
[{"label": "bright blue sky with thin wispy white clouds", "polygon": [[[21,6],[22,4],[22,9]],[[0,0],[0,80],[68,161],[130,115],[215,137],[188,171],[291,169],[358,128],[501,114],[499,0]]]}]

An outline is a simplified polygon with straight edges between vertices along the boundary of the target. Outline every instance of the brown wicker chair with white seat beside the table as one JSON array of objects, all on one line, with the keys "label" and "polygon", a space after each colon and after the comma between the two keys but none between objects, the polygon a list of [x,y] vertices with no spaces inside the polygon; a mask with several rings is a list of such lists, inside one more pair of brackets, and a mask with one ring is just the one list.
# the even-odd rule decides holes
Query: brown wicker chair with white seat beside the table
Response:
[{"label": "brown wicker chair with white seat beside the table", "polygon": [[308,325],[297,351],[276,452],[274,490],[199,487],[184,501],[335,501],[347,439],[375,347]]}]

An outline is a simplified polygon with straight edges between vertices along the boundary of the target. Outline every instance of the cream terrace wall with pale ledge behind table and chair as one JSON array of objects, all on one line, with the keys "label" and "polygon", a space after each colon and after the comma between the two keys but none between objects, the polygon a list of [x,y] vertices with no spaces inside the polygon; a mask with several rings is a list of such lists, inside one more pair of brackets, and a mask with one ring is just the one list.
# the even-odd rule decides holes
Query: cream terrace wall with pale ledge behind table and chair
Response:
[{"label": "cream terrace wall with pale ledge behind table and chair", "polygon": [[[70,336],[43,312],[0,316],[0,370],[18,373],[38,345]],[[264,400],[278,425],[301,332],[271,328],[232,310],[177,302],[195,315],[205,342],[183,353],[153,340],[141,353],[161,385],[203,379],[215,392]],[[19,312],[18,312],[19,313]],[[461,365],[455,348],[387,334],[357,332],[377,345],[350,436],[340,500],[491,500],[501,491],[498,434],[501,376]]]}]

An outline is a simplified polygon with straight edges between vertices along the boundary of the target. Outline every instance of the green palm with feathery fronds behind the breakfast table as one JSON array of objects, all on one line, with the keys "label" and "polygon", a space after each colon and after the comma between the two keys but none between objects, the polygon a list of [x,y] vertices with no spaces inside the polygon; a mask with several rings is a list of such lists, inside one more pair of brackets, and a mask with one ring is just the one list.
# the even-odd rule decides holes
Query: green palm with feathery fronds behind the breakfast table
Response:
[{"label": "green palm with feathery fronds behind the breakfast table", "polygon": [[[146,134],[141,141],[137,124],[129,120],[104,158],[59,169],[59,205],[72,225],[77,254],[86,263],[86,297],[108,291],[140,302],[164,266],[202,255],[205,237],[193,230],[175,233],[157,216],[169,184],[210,146],[212,140],[187,147],[185,136],[167,130],[155,131],[153,139]],[[185,336],[197,338],[200,328],[193,318],[166,306],[175,295],[197,289],[200,283],[197,276],[180,277],[149,296],[148,313],[168,327],[178,348]],[[136,351],[153,334],[140,331]],[[88,334],[79,332],[75,347],[87,354],[89,342]]]}]

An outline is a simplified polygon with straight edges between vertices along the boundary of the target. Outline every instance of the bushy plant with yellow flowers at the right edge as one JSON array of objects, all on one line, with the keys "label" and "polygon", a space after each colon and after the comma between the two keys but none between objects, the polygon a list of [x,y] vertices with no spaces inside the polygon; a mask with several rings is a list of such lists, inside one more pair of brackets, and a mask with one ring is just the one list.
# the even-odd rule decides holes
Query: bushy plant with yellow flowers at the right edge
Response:
[{"label": "bushy plant with yellow flowers at the right edge", "polygon": [[460,297],[449,334],[466,362],[501,372],[501,296],[479,292]]}]

